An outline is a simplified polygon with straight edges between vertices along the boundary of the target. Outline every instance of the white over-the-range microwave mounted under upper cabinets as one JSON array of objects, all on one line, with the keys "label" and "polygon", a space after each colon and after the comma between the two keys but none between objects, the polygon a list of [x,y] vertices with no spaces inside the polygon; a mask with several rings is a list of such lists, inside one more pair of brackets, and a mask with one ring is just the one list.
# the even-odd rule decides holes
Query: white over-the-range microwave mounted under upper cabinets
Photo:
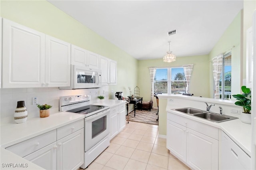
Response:
[{"label": "white over-the-range microwave mounted under upper cabinets", "polygon": [[101,87],[101,70],[71,65],[70,87],[59,87],[60,89],[88,89]]}]

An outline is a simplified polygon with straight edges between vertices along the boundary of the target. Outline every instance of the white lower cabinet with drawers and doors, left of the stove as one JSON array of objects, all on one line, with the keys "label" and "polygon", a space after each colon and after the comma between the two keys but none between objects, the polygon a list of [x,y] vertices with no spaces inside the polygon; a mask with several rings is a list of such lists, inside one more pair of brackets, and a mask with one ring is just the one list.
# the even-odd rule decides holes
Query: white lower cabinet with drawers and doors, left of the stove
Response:
[{"label": "white lower cabinet with drawers and doors, left of the stove", "polygon": [[84,119],[6,149],[46,170],[76,170],[84,163]]}]

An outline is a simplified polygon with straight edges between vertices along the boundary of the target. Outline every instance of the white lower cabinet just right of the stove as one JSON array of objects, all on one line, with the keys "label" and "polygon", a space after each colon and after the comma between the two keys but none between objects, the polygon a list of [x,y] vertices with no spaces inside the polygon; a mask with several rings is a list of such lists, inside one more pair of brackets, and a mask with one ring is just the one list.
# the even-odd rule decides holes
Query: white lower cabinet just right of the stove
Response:
[{"label": "white lower cabinet just right of the stove", "polygon": [[125,103],[110,108],[110,140],[123,130],[126,125]]}]

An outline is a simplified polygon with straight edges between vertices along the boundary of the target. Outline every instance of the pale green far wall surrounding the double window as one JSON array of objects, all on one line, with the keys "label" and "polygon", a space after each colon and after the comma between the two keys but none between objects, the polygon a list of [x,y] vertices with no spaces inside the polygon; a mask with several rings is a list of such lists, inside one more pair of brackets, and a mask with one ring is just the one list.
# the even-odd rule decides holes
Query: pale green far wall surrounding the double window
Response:
[{"label": "pale green far wall surrounding the double window", "polygon": [[[176,61],[172,63],[166,63],[163,59],[139,60],[138,87],[140,87],[140,95],[143,97],[143,100],[150,100],[151,83],[148,67],[182,67],[185,64],[194,64],[190,80],[190,93],[194,93],[198,97],[209,97],[208,55],[199,55],[176,57]],[[153,105],[157,107],[156,99],[154,99]]]}]

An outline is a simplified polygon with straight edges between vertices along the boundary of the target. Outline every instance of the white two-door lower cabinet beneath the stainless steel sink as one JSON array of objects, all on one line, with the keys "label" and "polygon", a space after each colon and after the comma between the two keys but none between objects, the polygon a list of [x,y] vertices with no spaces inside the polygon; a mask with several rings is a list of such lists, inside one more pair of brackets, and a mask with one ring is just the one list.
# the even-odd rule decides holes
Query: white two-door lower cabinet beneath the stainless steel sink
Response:
[{"label": "white two-door lower cabinet beneath the stainless steel sink", "polygon": [[218,169],[218,128],[167,113],[166,147],[196,170]]}]

